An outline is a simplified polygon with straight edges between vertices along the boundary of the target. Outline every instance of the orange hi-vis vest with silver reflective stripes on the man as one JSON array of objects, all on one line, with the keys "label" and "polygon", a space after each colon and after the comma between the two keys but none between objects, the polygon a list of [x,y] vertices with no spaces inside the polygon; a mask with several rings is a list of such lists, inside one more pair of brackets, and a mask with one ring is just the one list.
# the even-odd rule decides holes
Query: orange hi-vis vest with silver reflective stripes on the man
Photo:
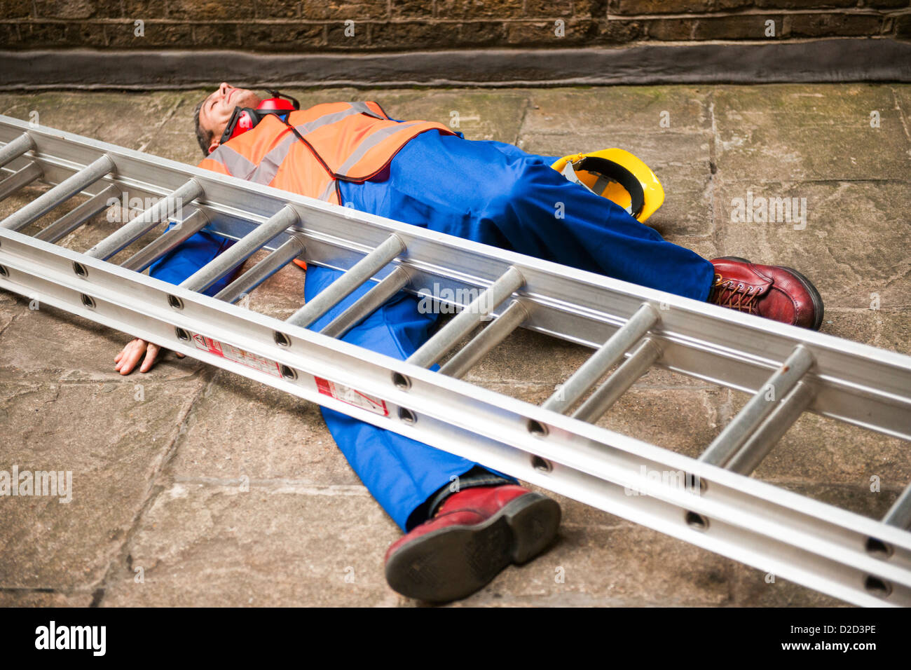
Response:
[{"label": "orange hi-vis vest with silver reflective stripes on the man", "polygon": [[287,120],[262,119],[212,151],[200,168],[338,205],[337,180],[369,180],[426,130],[455,135],[431,121],[393,121],[375,102],[324,103],[292,111]]}]

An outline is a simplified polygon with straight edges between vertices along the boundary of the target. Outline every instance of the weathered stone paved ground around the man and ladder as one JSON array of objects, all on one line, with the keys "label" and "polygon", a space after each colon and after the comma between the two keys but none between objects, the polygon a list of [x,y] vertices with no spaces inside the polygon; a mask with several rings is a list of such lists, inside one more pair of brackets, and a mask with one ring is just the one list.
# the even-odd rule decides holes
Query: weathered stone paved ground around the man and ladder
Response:
[{"label": "weathered stone paved ground around the man and ladder", "polygon": [[[805,269],[826,300],[824,332],[911,353],[911,87],[290,92],[304,107],[375,99],[397,119],[457,119],[468,139],[550,155],[629,149],[664,184],[651,223],[671,242],[708,258]],[[195,164],[189,116],[203,93],[0,94],[0,113],[28,119],[34,110],[42,124]],[[732,222],[734,199],[747,191],[806,198],[806,227]],[[23,202],[0,202],[0,216]],[[63,243],[85,250],[116,225],[98,216]],[[285,268],[251,295],[250,308],[286,317],[302,303],[303,278]],[[148,375],[121,377],[113,357],[128,335],[28,307],[0,294],[0,469],[71,469],[76,492],[68,504],[0,500],[15,510],[0,513],[0,551],[15,557],[0,563],[0,605],[420,604],[385,585],[384,551],[400,533],[334,447],[317,407],[173,356]],[[521,331],[467,379],[541,402],[588,354]],[[600,425],[694,456],[745,399],[653,370]],[[907,449],[804,417],[754,476],[875,517],[911,479]],[[844,604],[558,500],[555,545],[454,606]]]}]

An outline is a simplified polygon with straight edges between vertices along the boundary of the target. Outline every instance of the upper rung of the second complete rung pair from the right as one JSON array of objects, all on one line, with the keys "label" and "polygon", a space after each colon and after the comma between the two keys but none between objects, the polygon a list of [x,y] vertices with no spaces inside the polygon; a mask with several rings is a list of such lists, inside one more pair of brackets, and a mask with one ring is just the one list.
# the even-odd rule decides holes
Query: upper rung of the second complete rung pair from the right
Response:
[{"label": "upper rung of the second complete rung pair from the right", "polygon": [[561,414],[572,407],[576,401],[585,395],[589,388],[595,386],[598,380],[604,376],[614,364],[619,361],[630,346],[636,344],[642,337],[649,332],[649,329],[659,321],[658,312],[648,303],[643,303],[636,310],[636,314],[630,316],[616,333],[610,335],[598,351],[589,356],[589,359],[579,366],[567,381],[558,388],[551,397],[541,407],[550,409]]}]

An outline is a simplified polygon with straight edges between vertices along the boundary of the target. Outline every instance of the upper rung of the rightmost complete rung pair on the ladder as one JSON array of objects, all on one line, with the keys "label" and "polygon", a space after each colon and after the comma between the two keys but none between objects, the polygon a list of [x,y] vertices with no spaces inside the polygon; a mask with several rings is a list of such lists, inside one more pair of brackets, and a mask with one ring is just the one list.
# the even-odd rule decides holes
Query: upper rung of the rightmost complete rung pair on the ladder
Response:
[{"label": "upper rung of the rightmost complete rung pair on the ladder", "polygon": [[[809,350],[804,345],[794,347],[791,356],[788,356],[763,387],[756,391],[718,437],[712,440],[709,448],[702,452],[699,459],[723,467],[732,454],[750,438],[763,419],[772,413],[778,399],[787,396],[811,366],[813,355]],[[770,391],[772,397],[768,397]]]}]

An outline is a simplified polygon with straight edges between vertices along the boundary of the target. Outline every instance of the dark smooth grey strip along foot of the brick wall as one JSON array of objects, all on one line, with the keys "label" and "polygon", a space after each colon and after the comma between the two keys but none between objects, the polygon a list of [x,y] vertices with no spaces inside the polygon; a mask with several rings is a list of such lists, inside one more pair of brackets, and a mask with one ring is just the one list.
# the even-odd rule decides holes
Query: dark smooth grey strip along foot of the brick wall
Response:
[{"label": "dark smooth grey strip along foot of the brick wall", "polygon": [[830,39],[392,54],[0,51],[0,90],[911,81],[911,42]]}]

